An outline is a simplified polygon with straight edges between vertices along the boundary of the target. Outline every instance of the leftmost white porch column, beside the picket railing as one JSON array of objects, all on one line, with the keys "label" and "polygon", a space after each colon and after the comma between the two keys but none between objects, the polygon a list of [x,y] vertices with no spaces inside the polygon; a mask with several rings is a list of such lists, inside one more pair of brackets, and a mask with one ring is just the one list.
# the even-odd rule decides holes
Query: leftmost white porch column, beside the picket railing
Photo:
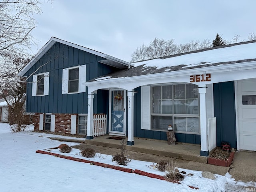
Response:
[{"label": "leftmost white porch column, beside the picket railing", "polygon": [[88,94],[88,116],[87,116],[87,135],[86,139],[92,139],[92,129],[93,129],[93,99],[94,94]]}]

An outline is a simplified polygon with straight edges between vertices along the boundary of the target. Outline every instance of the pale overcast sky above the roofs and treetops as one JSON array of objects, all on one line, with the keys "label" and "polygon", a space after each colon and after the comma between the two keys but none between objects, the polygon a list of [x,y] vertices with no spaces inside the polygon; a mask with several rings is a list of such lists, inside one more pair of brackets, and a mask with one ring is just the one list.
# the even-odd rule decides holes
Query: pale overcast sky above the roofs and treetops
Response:
[{"label": "pale overcast sky above the roofs and treetops", "polygon": [[52,36],[130,61],[156,38],[213,40],[256,33],[256,0],[54,0],[42,4],[34,54]]}]

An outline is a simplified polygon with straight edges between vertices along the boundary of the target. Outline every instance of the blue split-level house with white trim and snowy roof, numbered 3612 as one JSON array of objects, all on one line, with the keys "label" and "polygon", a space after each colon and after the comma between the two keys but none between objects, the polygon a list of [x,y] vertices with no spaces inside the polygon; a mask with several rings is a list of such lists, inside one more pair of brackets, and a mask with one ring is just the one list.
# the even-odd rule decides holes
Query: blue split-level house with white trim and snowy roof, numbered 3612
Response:
[{"label": "blue split-level house with white trim and snowy roof, numbered 3612", "polygon": [[51,38],[19,75],[35,129],[92,139],[106,114],[107,134],[128,145],[167,140],[171,124],[202,156],[222,141],[256,151],[256,41],[128,63]]}]

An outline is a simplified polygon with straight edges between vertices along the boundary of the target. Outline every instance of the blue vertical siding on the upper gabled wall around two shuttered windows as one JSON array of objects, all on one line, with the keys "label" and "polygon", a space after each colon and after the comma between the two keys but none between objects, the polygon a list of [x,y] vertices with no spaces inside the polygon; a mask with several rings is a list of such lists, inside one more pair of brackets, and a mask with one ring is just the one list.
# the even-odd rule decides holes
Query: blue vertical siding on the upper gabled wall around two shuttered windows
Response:
[{"label": "blue vertical siding on the upper gabled wall around two shuttered windows", "polygon": [[[25,74],[30,76],[37,69],[34,74],[50,72],[48,96],[32,96],[32,83],[27,84],[27,112],[87,113],[87,90],[85,93],[62,94],[62,69],[86,64],[86,81],[116,71],[115,68],[98,62],[99,60],[104,58],[56,42]],[[30,76],[28,82],[32,82],[32,77]],[[94,101],[94,112],[98,112],[97,96]]]}]

